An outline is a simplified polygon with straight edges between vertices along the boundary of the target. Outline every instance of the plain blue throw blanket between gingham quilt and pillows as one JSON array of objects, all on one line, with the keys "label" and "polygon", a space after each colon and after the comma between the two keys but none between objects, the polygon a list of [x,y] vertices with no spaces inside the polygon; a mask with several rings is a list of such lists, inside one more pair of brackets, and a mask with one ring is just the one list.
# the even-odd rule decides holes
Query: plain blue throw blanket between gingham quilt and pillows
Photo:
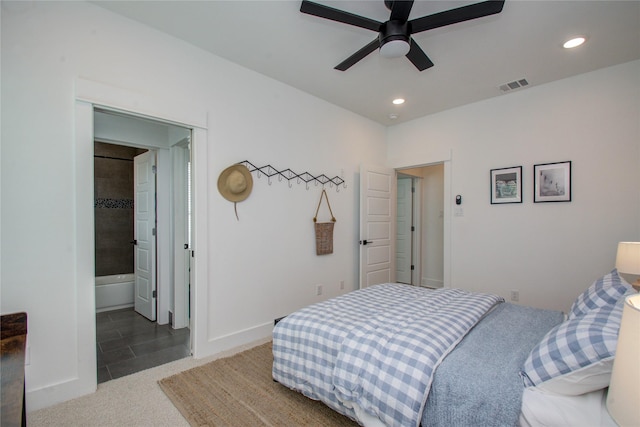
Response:
[{"label": "plain blue throw blanket between gingham quilt and pillows", "polygon": [[500,304],[440,364],[422,427],[516,426],[531,349],[563,321],[559,311]]}]

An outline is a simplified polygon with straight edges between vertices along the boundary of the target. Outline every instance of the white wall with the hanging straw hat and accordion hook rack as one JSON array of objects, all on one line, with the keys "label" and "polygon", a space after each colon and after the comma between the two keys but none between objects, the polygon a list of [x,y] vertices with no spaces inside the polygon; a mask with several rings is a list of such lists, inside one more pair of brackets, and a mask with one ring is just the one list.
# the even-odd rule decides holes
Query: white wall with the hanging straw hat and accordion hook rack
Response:
[{"label": "white wall with the hanging straw hat and accordion hook rack", "polygon": [[[91,206],[93,194],[88,171],[75,167],[76,156],[92,162],[92,149],[75,145],[79,79],[206,112],[208,140],[196,151],[206,153],[197,159],[206,167],[197,186],[209,213],[201,218],[208,234],[197,236],[206,250],[196,251],[196,262],[208,267],[202,355],[268,333],[274,318],[357,287],[357,171],[361,162],[384,163],[380,125],[79,2],[3,2],[1,71],[1,310],[29,314],[29,410],[86,393],[76,386],[91,381],[79,378],[86,375],[81,365],[94,363],[80,355],[95,351],[95,320],[91,310],[77,309],[92,304],[93,289],[78,280],[80,269],[93,270],[86,261],[77,265],[90,241],[78,233],[90,221],[75,216],[76,203]],[[236,221],[216,182],[242,160],[344,172],[347,188],[329,191],[338,220],[334,254],[314,251],[320,187],[256,178]],[[200,253],[208,257],[198,259]],[[317,283],[325,285],[321,297]]]}]

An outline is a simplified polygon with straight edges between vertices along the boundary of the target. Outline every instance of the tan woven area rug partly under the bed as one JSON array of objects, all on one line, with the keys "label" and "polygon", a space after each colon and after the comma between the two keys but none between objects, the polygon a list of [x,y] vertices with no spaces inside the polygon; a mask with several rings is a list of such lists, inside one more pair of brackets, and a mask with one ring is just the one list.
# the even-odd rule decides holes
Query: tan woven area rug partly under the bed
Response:
[{"label": "tan woven area rug partly under the bed", "polygon": [[159,381],[192,426],[357,426],[271,378],[271,342]]}]

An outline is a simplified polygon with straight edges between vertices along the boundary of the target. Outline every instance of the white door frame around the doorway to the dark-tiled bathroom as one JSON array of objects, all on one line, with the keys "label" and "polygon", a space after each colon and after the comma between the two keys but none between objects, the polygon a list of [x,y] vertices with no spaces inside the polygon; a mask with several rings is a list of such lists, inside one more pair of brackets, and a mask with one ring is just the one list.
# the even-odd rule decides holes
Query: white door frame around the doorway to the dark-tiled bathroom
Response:
[{"label": "white door frame around the doorway to the dark-tiled bathroom", "polygon": [[[75,235],[76,310],[78,324],[77,377],[61,385],[61,395],[69,398],[97,389],[95,324],[95,233],[93,212],[93,112],[95,107],[174,123],[192,129],[193,166],[193,249],[191,292],[191,347],[194,357],[206,347],[207,277],[207,114],[174,99],[155,99],[118,87],[76,79],[75,118]],[[198,232],[196,233],[195,230]],[[201,236],[198,238],[198,236]],[[202,262],[199,260],[202,259]],[[196,298],[197,297],[197,298]],[[197,302],[197,304],[196,304]]]}]

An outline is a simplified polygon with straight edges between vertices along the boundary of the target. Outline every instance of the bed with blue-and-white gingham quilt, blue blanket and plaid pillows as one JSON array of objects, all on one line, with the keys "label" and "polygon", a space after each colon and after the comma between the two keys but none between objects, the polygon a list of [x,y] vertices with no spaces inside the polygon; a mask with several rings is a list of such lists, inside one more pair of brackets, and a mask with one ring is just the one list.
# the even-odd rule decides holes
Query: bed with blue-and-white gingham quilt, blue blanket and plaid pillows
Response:
[{"label": "bed with blue-and-white gingham quilt, blue blanket and plaid pillows", "polygon": [[364,426],[553,425],[580,414],[608,425],[603,396],[632,292],[613,270],[565,316],[460,289],[376,285],[280,320],[273,379]]}]

